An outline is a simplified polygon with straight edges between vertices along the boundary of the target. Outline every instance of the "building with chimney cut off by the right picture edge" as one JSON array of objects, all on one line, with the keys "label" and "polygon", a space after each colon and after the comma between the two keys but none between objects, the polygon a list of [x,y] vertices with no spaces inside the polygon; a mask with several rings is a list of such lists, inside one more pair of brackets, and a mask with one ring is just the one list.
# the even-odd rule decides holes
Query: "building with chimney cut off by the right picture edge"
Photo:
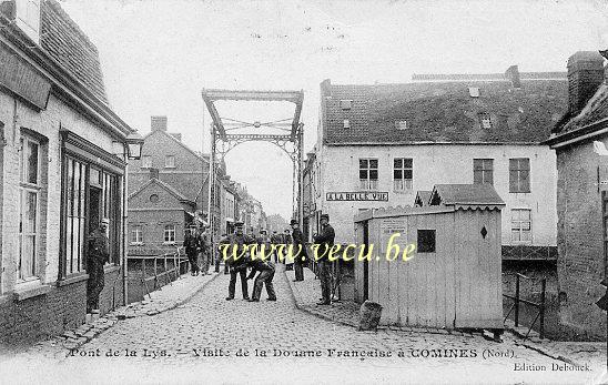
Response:
[{"label": "building with chimney cut off by the right picture edge", "polygon": [[608,68],[598,52],[576,52],[567,68],[567,113],[547,141],[557,154],[559,322],[579,338],[605,338],[595,302],[608,255]]}]

